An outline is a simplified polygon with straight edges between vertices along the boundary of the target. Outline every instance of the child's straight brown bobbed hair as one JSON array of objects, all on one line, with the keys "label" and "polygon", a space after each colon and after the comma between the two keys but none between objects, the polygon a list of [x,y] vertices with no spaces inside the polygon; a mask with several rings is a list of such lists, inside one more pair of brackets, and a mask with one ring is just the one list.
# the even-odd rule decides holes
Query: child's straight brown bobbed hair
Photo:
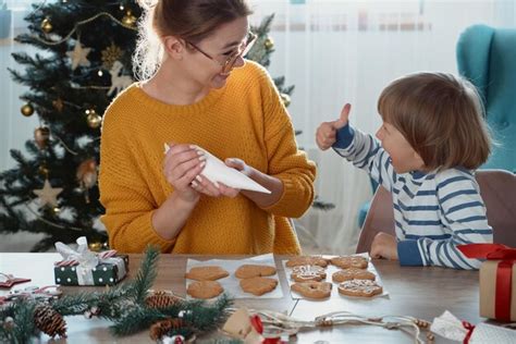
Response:
[{"label": "child's straight brown bobbed hair", "polygon": [[392,82],[378,111],[407,139],[429,170],[475,170],[491,152],[491,135],[477,89],[445,73],[417,73]]}]

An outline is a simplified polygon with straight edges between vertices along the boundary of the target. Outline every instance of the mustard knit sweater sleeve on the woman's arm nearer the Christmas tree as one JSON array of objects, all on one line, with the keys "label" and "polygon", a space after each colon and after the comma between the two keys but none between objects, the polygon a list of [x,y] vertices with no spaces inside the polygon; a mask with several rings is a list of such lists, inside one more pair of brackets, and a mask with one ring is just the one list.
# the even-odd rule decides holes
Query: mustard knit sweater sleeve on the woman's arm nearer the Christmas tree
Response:
[{"label": "mustard knit sweater sleeve on the woman's arm nearer the Christmas tree", "polygon": [[109,244],[122,253],[143,253],[149,244],[171,251],[174,241],[163,239],[152,228],[157,205],[139,172],[137,150],[126,136],[123,111],[112,105],[102,123],[99,189]]}]

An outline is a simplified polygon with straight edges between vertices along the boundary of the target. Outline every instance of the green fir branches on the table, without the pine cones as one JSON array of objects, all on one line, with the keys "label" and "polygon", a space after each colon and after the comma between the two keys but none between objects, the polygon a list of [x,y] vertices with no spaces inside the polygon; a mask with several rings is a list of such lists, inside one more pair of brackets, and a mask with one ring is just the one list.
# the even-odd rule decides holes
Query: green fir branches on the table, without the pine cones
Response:
[{"label": "green fir branches on the table, without the pine cones", "polygon": [[[184,325],[172,329],[169,335],[181,334],[185,337],[213,331],[228,317],[232,300],[228,295],[209,305],[199,300],[182,300],[167,308],[147,306],[148,290],[157,277],[159,249],[148,247],[139,271],[132,281],[119,284],[105,292],[84,292],[64,295],[50,303],[61,316],[83,315],[96,307],[98,317],[111,320],[114,335],[133,334],[160,320],[181,318]],[[33,298],[20,298],[0,308],[0,343],[30,343],[38,335],[34,311],[44,302]],[[12,319],[12,321],[11,321]]]}]

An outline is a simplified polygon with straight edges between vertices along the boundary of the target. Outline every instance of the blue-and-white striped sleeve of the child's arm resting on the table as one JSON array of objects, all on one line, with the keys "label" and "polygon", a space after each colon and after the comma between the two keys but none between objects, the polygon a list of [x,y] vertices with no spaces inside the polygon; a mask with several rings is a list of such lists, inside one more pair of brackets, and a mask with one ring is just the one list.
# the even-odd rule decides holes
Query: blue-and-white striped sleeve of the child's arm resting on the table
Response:
[{"label": "blue-and-white striped sleeve of the child's arm resting on the table", "polygon": [[[398,243],[401,265],[417,265],[408,253],[417,244],[422,266],[441,266],[454,269],[479,269],[481,260],[468,259],[457,245],[484,244],[493,242],[493,230],[488,224],[486,206],[479,194],[475,177],[470,174],[455,174],[439,182],[437,197],[443,214],[442,225],[450,238],[403,241]],[[411,247],[410,247],[411,246]],[[405,259],[406,258],[406,259]],[[409,263],[408,260],[411,260]]]}]

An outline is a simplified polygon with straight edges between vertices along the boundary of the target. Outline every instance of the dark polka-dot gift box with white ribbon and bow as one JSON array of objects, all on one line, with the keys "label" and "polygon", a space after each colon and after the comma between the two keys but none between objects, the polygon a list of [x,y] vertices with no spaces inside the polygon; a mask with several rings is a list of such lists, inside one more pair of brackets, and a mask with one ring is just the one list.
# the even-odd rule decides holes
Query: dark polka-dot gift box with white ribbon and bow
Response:
[{"label": "dark polka-dot gift box with white ribbon and bow", "polygon": [[77,245],[74,250],[63,243],[56,243],[56,249],[63,257],[53,268],[57,284],[114,285],[127,273],[127,255],[116,255],[115,250],[95,254],[84,236],[77,238]]}]

